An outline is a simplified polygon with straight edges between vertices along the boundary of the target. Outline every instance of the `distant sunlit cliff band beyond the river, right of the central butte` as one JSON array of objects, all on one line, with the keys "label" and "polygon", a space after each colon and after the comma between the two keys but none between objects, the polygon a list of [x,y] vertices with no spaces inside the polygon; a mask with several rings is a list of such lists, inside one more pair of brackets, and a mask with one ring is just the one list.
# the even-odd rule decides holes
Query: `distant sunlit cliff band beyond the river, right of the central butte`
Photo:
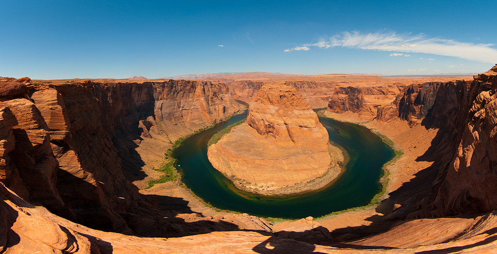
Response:
[{"label": "distant sunlit cliff band beyond the river, right of the central butte", "polygon": [[420,124],[434,103],[438,86],[467,77],[380,78],[342,81],[335,84],[328,111],[349,121],[389,122],[403,119],[413,127]]}]

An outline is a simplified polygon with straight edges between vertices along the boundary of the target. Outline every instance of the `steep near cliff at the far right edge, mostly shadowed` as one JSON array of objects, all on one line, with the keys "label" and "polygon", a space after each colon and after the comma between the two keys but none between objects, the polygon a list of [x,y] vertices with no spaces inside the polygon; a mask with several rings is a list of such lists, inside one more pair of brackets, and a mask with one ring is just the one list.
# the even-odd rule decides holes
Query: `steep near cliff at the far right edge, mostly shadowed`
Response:
[{"label": "steep near cliff at the far right edge, mostly shadowed", "polygon": [[[459,103],[446,109],[447,136],[454,143],[450,160],[441,167],[433,183],[431,196],[415,216],[448,216],[482,213],[497,209],[497,64],[485,73],[475,75],[469,86],[453,84],[439,97]],[[449,99],[445,99],[448,96]],[[439,105],[442,109],[444,105]],[[454,119],[453,117],[457,118]],[[457,120],[457,122],[453,122]]]}]

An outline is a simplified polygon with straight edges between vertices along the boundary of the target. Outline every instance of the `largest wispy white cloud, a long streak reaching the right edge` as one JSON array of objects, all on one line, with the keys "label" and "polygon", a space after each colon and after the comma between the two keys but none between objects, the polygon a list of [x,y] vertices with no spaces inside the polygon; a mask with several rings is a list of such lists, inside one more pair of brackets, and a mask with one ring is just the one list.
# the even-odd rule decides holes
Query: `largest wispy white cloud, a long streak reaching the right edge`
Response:
[{"label": "largest wispy white cloud, a long streak reaching the right edge", "polygon": [[[343,47],[362,50],[425,53],[491,64],[495,64],[497,60],[495,44],[474,44],[440,38],[427,38],[423,34],[397,34],[390,31],[367,34],[343,32],[332,37],[321,38],[317,43],[303,44],[302,47],[308,48],[306,50],[309,50],[310,47],[325,49]],[[295,48],[287,49],[285,52],[292,50],[295,50]]]}]

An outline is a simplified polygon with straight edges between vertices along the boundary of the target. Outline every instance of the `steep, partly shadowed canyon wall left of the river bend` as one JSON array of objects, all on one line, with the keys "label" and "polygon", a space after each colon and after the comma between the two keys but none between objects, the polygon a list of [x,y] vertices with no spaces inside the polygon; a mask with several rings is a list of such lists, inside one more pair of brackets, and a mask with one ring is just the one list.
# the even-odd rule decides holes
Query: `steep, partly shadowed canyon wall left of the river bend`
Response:
[{"label": "steep, partly shadowed canyon wall left of the river bend", "polygon": [[192,133],[242,107],[211,82],[0,81],[0,181],[59,216],[125,234],[129,212],[147,206],[123,175],[134,141],[176,133],[167,121],[184,125],[177,136]]}]

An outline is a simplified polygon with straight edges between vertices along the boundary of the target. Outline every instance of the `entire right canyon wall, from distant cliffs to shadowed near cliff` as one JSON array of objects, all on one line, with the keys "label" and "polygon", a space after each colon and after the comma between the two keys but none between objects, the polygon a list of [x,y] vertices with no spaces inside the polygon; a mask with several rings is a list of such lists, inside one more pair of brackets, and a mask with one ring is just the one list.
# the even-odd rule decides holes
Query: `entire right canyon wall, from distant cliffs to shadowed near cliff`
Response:
[{"label": "entire right canyon wall, from distant cliffs to shadowed near cliff", "polygon": [[[404,87],[389,105],[377,107],[375,121],[395,119],[411,127],[437,128],[431,147],[418,158],[434,161],[436,179],[408,218],[476,214],[497,209],[497,65],[473,81],[426,82]],[[364,93],[340,88],[330,100],[335,113],[370,112]]]}]

